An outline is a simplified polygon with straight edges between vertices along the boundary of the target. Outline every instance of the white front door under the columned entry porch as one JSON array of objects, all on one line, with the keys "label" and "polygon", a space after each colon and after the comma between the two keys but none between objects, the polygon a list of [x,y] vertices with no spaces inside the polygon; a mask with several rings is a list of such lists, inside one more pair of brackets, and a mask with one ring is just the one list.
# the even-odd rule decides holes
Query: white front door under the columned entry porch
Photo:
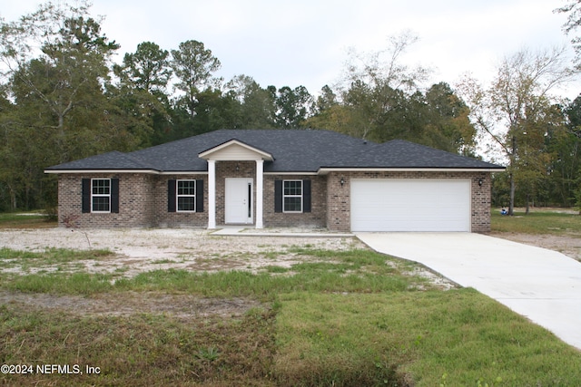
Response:
[{"label": "white front door under the columned entry porch", "polygon": [[252,179],[226,179],[225,222],[252,224]]}]

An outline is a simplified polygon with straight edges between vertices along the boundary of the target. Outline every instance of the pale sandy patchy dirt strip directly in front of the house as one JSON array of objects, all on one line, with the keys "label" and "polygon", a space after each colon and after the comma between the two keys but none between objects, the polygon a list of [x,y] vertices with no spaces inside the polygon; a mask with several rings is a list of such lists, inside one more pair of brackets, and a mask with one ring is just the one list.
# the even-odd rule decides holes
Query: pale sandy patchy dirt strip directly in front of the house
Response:
[{"label": "pale sandy patchy dirt strip directly in front of the house", "polygon": [[[205,229],[114,229],[68,228],[0,231],[0,246],[15,250],[46,248],[108,249],[114,254],[99,260],[75,262],[77,271],[122,274],[131,277],[156,269],[217,271],[263,266],[290,267],[302,257],[289,247],[343,251],[364,246],[355,237],[222,237]],[[295,248],[296,249],[296,248]],[[82,270],[78,267],[84,266]],[[50,271],[50,267],[42,267]],[[54,266],[62,270],[62,266]],[[14,269],[15,271],[18,268]],[[34,273],[34,270],[30,271]]]}]

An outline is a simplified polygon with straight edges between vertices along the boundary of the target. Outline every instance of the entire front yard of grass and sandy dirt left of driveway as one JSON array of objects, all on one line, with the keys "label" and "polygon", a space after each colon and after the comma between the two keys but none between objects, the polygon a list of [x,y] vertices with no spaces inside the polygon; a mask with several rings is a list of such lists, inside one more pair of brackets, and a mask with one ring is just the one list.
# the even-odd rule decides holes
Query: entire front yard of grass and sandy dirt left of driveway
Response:
[{"label": "entire front yard of grass and sandy dirt left of driveway", "polygon": [[553,334],[352,238],[49,228],[0,230],[0,245],[6,385],[581,380]]}]

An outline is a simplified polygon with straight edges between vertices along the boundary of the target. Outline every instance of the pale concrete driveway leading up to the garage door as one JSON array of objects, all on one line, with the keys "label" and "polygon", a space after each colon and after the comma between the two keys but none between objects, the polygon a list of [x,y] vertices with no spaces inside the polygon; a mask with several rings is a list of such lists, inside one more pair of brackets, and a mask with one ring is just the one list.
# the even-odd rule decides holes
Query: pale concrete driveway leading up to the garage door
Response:
[{"label": "pale concrete driveway leading up to the garage door", "polygon": [[470,286],[581,349],[581,263],[556,251],[470,233],[356,233],[372,249]]}]

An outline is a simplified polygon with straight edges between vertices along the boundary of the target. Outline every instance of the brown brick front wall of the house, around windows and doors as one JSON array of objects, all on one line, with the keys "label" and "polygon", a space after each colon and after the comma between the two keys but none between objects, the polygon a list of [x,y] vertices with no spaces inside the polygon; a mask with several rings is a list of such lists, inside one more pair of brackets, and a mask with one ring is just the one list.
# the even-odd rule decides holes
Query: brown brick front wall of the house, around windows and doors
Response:
[{"label": "brown brick front wall of the house, around windows and doors", "polygon": [[[119,179],[118,214],[83,214],[82,179]],[[249,178],[256,200],[256,163],[219,161],[216,163],[216,223],[224,224],[225,179]],[[345,183],[340,185],[340,179]],[[168,212],[169,179],[202,179],[203,212]],[[274,181],[310,179],[311,212],[274,212]],[[331,172],[326,176],[264,175],[263,221],[265,227],[328,227],[350,231],[350,179],[470,179],[472,189],[472,232],[490,231],[490,173],[488,172]],[[478,185],[478,179],[483,184]],[[208,175],[148,174],[64,174],[58,179],[59,223],[74,227],[207,227]],[[256,206],[254,219],[256,219]]]}]

